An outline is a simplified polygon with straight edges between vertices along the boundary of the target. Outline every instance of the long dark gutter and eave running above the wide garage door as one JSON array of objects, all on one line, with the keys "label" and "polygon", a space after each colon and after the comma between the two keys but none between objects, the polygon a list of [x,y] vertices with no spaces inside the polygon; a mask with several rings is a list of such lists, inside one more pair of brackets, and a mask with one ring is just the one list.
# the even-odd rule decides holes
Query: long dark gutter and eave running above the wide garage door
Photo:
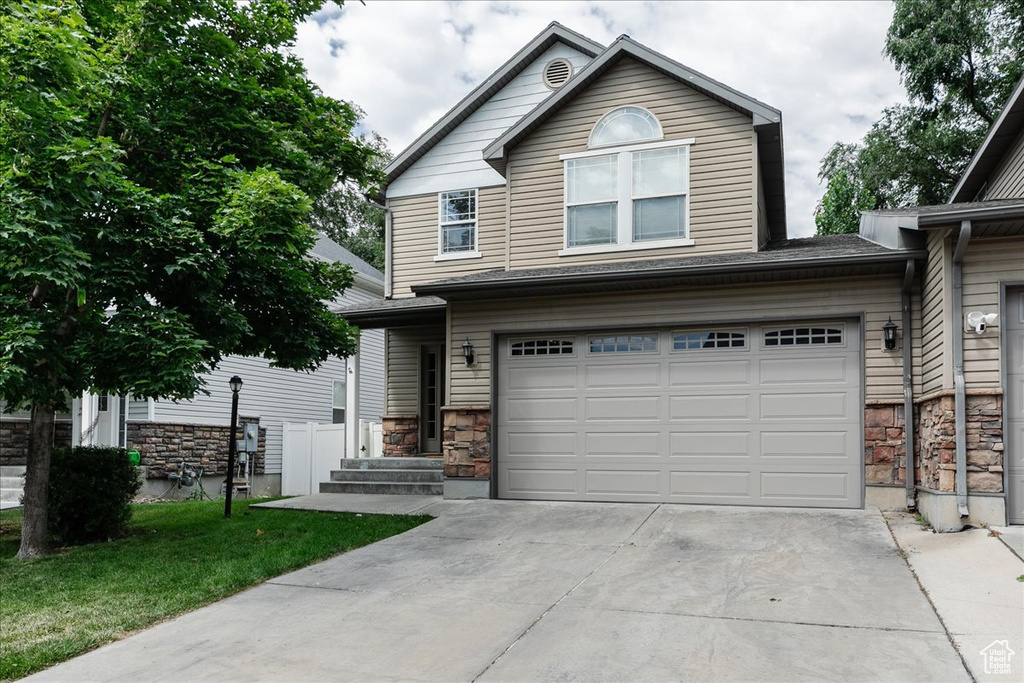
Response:
[{"label": "long dark gutter and eave running above the wide garage door", "polygon": [[537,276],[521,276],[510,280],[482,282],[472,280],[467,282],[447,281],[442,283],[427,283],[414,285],[413,291],[418,296],[434,295],[446,300],[458,298],[460,294],[476,293],[481,290],[488,295],[515,295],[538,293],[557,286],[559,289],[593,285],[607,286],[613,283],[641,283],[644,281],[665,281],[674,278],[686,279],[694,276],[721,274],[754,274],[780,270],[810,270],[827,267],[856,267],[862,265],[878,265],[885,263],[903,263],[907,259],[923,259],[928,256],[924,250],[892,251],[880,254],[841,255],[804,259],[787,259],[777,261],[759,261],[748,263],[715,263],[708,265],[690,265],[657,267],[651,265],[643,270],[612,270],[603,272],[554,272]]}]

